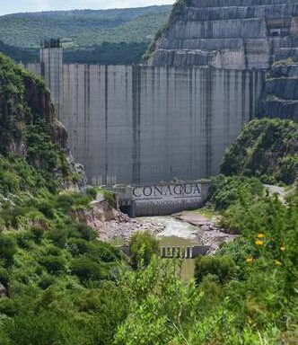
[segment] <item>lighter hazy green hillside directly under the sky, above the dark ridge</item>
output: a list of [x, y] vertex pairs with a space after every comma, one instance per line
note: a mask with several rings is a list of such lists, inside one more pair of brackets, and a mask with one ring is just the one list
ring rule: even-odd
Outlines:
[[40, 40], [61, 38], [66, 47], [102, 42], [143, 42], [153, 37], [171, 12], [170, 5], [115, 10], [17, 13], [0, 17], [0, 40], [37, 48]]

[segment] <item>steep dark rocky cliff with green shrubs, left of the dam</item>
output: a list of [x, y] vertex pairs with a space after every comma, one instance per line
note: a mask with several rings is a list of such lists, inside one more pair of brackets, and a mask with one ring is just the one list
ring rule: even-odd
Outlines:
[[[0, 158], [2, 165], [11, 169], [11, 179], [24, 178], [14, 166], [21, 160], [26, 169], [39, 169], [48, 183], [54, 178], [57, 187], [77, 187], [82, 181], [46, 85], [4, 55], [0, 55]], [[7, 173], [3, 170], [0, 191]], [[25, 190], [26, 183], [21, 184]]]

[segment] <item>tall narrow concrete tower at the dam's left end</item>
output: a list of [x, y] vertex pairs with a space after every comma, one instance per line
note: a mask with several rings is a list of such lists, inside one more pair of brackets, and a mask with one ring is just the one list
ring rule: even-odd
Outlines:
[[41, 75], [43, 76], [57, 112], [57, 118], [62, 116], [63, 101], [63, 61], [62, 44], [59, 39], [44, 40], [40, 49]]

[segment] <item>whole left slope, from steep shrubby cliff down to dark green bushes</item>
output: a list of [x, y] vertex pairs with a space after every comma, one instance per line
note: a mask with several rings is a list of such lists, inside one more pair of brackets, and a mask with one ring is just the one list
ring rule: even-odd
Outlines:
[[4, 56], [0, 117], [0, 343], [108, 344], [121, 255], [76, 220], [94, 190], [65, 190], [79, 176], [48, 90]]

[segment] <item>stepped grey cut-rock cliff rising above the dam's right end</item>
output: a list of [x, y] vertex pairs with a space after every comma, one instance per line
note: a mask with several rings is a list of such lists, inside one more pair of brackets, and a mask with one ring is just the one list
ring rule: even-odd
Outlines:
[[298, 57], [297, 35], [297, 0], [179, 0], [148, 64], [267, 69]]

